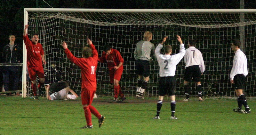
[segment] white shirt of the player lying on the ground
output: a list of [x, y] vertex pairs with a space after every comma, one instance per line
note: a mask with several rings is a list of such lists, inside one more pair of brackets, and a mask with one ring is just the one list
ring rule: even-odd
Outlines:
[[58, 92], [52, 93], [52, 95], [50, 96], [52, 98], [52, 100], [67, 100], [67, 99], [76, 99], [75, 95], [70, 95], [68, 94], [68, 89], [69, 87], [65, 88], [65, 89], [61, 89]]

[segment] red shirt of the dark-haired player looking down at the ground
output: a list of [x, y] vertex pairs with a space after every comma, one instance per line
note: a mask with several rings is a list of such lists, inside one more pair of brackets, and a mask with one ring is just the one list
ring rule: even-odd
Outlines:
[[[116, 50], [111, 48], [111, 52], [109, 55], [103, 51], [102, 56], [98, 59], [99, 62], [106, 62], [108, 65], [108, 69], [114, 69], [115, 66], [118, 66], [120, 62], [124, 63], [124, 59], [121, 54]], [[123, 65], [120, 67], [123, 68]]]

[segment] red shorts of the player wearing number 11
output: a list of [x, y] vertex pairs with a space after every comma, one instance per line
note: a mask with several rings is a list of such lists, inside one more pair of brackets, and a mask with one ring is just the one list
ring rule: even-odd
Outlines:
[[82, 105], [85, 105], [85, 104], [91, 105], [95, 92], [96, 92], [95, 90], [82, 89], [81, 91]]

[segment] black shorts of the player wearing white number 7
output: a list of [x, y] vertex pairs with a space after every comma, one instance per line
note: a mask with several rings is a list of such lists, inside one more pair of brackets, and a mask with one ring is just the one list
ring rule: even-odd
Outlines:
[[199, 65], [189, 66], [185, 69], [184, 80], [190, 82], [191, 78], [195, 82], [201, 82], [201, 70]]

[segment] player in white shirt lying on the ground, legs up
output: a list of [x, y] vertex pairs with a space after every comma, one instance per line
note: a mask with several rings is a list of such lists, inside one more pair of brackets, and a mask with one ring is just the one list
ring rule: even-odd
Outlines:
[[[59, 71], [56, 69], [54, 64], [51, 65], [55, 73], [55, 79], [58, 82], [53, 83], [50, 86], [50, 82], [48, 80], [48, 71], [44, 70], [44, 87], [46, 90], [46, 97], [48, 100], [67, 100], [67, 99], [76, 99], [78, 95], [69, 88], [68, 83], [62, 81]], [[40, 85], [38, 85], [38, 89], [40, 89]], [[53, 92], [52, 95], [49, 94], [49, 91]], [[70, 92], [72, 95], [68, 94]]]

